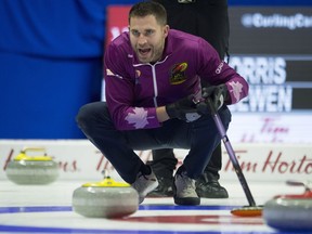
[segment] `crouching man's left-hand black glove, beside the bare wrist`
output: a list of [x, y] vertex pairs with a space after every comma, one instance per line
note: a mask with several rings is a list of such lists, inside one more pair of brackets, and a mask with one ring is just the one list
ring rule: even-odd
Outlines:
[[166, 105], [166, 112], [170, 118], [178, 118], [186, 122], [194, 121], [200, 117], [197, 113], [194, 95], [188, 95], [178, 102]]

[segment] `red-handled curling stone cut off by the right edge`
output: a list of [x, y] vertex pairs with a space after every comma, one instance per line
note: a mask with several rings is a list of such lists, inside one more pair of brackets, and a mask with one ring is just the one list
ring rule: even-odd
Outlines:
[[[304, 185], [301, 182], [288, 184]], [[280, 231], [312, 231], [312, 191], [306, 186], [303, 194], [274, 196], [264, 204], [263, 219], [269, 226]]]

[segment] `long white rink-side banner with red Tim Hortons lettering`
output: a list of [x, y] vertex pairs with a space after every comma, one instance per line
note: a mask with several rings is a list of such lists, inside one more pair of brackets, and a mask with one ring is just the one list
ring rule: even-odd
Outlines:
[[[121, 180], [105, 156], [88, 140], [1, 140], [0, 180], [8, 180], [5, 174], [8, 162], [25, 147], [44, 148], [46, 154], [53, 157], [60, 166], [61, 174], [58, 180], [100, 181], [103, 179], [103, 171], [108, 171], [114, 179]], [[285, 182], [286, 180], [311, 180], [311, 144], [235, 143], [233, 148], [248, 181]], [[143, 161], [152, 160], [150, 151], [136, 153]], [[174, 153], [179, 159], [178, 168], [187, 151], [174, 150]], [[222, 181], [237, 180], [224, 147], [222, 148]]]

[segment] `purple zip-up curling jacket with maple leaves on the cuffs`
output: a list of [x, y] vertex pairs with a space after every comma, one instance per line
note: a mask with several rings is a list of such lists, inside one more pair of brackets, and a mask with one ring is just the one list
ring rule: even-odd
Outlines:
[[204, 39], [174, 29], [166, 38], [161, 60], [142, 64], [122, 32], [104, 55], [105, 94], [118, 130], [157, 128], [156, 107], [188, 94], [200, 98], [200, 79], [216, 86], [225, 83], [234, 104], [248, 94], [248, 84], [221, 61]]

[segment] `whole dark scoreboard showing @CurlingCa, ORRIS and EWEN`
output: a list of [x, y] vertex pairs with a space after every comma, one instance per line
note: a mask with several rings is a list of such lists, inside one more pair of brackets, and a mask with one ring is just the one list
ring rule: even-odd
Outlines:
[[250, 94], [238, 112], [312, 112], [312, 8], [230, 8], [230, 65]]

